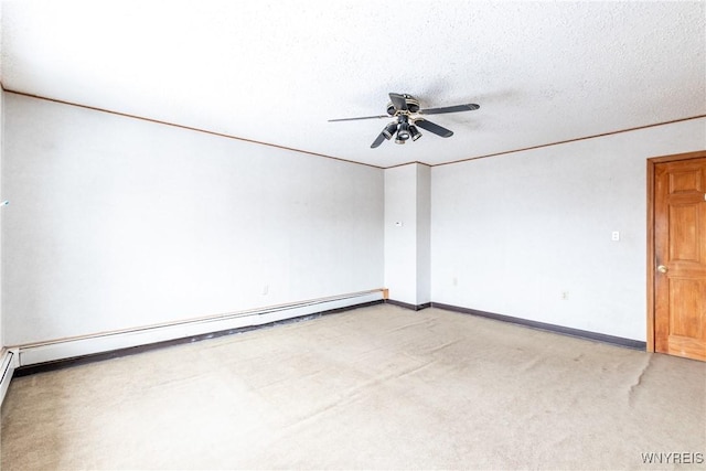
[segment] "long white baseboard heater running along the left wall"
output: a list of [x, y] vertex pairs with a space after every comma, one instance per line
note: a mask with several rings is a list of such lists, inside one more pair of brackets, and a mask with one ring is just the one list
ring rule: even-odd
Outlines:
[[18, 352], [17, 365], [24, 368], [31, 365], [55, 363], [180, 339], [186, 339], [186, 341], [208, 339], [217, 336], [217, 334], [235, 333], [244, 328], [383, 302], [383, 297], [384, 290], [375, 289], [158, 325], [19, 345], [14, 347]]

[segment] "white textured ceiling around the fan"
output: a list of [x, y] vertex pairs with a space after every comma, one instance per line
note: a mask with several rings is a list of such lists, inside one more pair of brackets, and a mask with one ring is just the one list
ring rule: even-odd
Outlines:
[[[2, 1], [7, 90], [391, 167], [706, 115], [706, 2]], [[454, 131], [370, 144], [389, 92]]]

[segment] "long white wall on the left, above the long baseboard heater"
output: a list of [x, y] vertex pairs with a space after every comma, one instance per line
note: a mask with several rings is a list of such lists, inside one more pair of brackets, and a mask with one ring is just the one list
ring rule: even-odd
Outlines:
[[383, 287], [383, 171], [6, 94], [24, 344]]

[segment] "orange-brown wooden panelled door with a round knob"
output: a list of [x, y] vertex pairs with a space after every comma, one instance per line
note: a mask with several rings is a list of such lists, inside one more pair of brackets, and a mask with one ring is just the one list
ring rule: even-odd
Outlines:
[[706, 152], [687, 157], [654, 162], [654, 351], [706, 361]]

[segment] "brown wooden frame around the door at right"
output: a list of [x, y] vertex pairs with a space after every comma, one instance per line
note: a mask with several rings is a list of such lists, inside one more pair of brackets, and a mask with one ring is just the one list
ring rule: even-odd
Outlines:
[[654, 352], [654, 285], [656, 282], [656, 254], [654, 253], [654, 170], [659, 163], [699, 159], [703, 157], [706, 157], [706, 150], [648, 159], [648, 352]]

